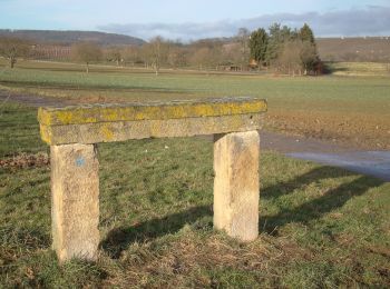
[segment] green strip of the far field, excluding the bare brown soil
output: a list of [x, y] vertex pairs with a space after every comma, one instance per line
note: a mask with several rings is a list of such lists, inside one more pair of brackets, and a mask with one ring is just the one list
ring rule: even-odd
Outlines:
[[[266, 98], [271, 109], [308, 108], [315, 111], [389, 113], [389, 78], [274, 78], [263, 76], [139, 73], [129, 69], [96, 70], [89, 74], [68, 66], [45, 69], [6, 69], [0, 83], [8, 87], [50, 89], [72, 98], [98, 94], [128, 100], [253, 96]], [[115, 69], [115, 68], [113, 68]], [[57, 90], [57, 91], [56, 91]]]

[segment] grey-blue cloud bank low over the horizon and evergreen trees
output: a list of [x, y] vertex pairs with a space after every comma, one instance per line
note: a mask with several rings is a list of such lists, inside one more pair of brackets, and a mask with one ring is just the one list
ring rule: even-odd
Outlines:
[[202, 38], [231, 37], [241, 27], [254, 30], [259, 27], [267, 28], [274, 22], [293, 28], [302, 27], [304, 22], [308, 22], [319, 37], [389, 36], [390, 7], [368, 6], [364, 9], [329, 11], [324, 13], [275, 13], [248, 19], [226, 19], [205, 23], [111, 23], [99, 26], [98, 29], [143, 39], [162, 36], [168, 39], [188, 41]]

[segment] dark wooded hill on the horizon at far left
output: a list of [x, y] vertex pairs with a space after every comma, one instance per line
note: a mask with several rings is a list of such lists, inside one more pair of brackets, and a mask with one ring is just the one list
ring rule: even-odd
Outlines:
[[97, 31], [61, 31], [61, 30], [9, 30], [0, 29], [0, 37], [16, 37], [28, 39], [38, 43], [71, 46], [79, 41], [92, 41], [100, 46], [142, 46], [143, 39], [105, 33]]

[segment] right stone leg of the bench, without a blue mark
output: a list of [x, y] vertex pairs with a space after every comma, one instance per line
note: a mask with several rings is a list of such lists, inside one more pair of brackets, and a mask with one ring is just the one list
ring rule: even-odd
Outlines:
[[214, 136], [214, 227], [242, 241], [259, 236], [257, 131]]

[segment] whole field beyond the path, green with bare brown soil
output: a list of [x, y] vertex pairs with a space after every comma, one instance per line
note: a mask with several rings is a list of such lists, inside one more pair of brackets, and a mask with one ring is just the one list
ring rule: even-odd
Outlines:
[[150, 70], [105, 66], [92, 67], [87, 74], [79, 64], [31, 61], [0, 71], [0, 86], [6, 89], [75, 102], [266, 98], [270, 130], [390, 149], [390, 77], [286, 78], [173, 70], [156, 77]]

